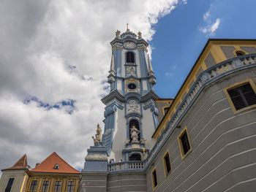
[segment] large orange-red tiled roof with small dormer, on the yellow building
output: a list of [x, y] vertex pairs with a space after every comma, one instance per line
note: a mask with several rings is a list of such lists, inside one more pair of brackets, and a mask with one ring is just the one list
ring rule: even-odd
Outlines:
[[[59, 164], [59, 169], [54, 169], [54, 166]], [[72, 166], [67, 164], [57, 153], [53, 152], [42, 161], [41, 164], [37, 165], [30, 172], [50, 172], [50, 173], [80, 173]]]

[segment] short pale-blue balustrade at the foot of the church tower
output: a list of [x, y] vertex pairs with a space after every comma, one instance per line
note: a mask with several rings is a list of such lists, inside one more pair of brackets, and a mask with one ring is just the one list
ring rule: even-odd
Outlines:
[[108, 164], [109, 172], [141, 170], [144, 168], [143, 161], [123, 161], [113, 164]]

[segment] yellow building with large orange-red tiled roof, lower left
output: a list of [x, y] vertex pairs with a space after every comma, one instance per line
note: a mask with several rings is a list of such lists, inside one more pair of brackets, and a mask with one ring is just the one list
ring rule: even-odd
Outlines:
[[26, 191], [78, 191], [80, 172], [52, 153], [29, 172]]

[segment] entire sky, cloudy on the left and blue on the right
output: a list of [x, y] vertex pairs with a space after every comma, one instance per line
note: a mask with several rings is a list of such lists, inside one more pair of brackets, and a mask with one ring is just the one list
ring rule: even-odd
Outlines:
[[[142, 32], [174, 98], [208, 38], [255, 39], [254, 0], [1, 0], [0, 169], [55, 151], [82, 169], [102, 123], [115, 31]], [[1, 173], [0, 173], [1, 174]]]

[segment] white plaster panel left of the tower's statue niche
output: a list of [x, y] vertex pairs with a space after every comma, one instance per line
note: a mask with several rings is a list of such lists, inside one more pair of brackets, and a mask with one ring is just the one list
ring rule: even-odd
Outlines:
[[124, 161], [122, 150], [127, 139], [127, 120], [124, 118], [124, 109], [116, 111], [116, 128], [113, 133], [113, 145], [109, 159], [113, 158], [116, 162], [120, 159]]

